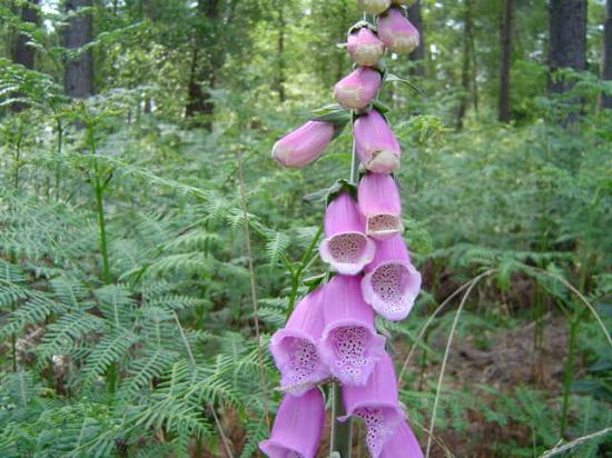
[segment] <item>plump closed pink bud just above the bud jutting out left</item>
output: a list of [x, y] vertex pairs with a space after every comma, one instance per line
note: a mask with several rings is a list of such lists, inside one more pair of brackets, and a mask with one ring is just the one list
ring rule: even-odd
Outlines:
[[359, 110], [374, 99], [381, 83], [381, 73], [368, 67], [359, 67], [336, 83], [334, 97], [344, 108]]

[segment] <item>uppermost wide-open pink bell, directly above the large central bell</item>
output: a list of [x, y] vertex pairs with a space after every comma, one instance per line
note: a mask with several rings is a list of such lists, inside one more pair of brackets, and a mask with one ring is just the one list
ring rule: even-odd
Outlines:
[[365, 220], [347, 192], [336, 197], [325, 211], [325, 239], [320, 259], [339, 273], [355, 275], [374, 259], [374, 241], [366, 237]]

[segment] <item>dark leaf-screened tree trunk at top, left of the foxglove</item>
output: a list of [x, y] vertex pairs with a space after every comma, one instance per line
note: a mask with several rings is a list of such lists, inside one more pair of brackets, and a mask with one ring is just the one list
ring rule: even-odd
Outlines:
[[[219, 0], [198, 0], [198, 14], [206, 18], [208, 27], [201, 24], [194, 36], [194, 50], [191, 56], [191, 72], [188, 84], [188, 100], [185, 116], [195, 119], [195, 123], [213, 130], [213, 111], [215, 103], [210, 100], [210, 89], [217, 83], [217, 69], [220, 67], [223, 50], [219, 49]], [[204, 29], [208, 29], [205, 33]], [[210, 32], [213, 30], [213, 32]], [[214, 38], [214, 39], [213, 39]], [[203, 51], [200, 56], [199, 51]]]

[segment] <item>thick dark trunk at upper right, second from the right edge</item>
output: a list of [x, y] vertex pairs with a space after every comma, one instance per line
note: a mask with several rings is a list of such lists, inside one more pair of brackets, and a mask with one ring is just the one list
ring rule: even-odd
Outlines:
[[586, 69], [586, 0], [551, 0], [549, 93], [566, 92], [574, 83], [554, 79], [556, 70]]

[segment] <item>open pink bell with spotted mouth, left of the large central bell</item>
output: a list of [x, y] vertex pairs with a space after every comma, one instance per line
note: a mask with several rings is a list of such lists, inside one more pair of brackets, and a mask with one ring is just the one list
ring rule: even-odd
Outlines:
[[280, 386], [300, 396], [329, 376], [317, 345], [325, 327], [323, 289], [308, 293], [294, 309], [283, 329], [272, 336], [270, 352], [280, 371]]

